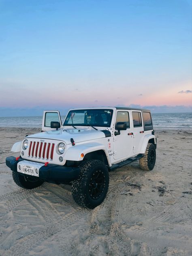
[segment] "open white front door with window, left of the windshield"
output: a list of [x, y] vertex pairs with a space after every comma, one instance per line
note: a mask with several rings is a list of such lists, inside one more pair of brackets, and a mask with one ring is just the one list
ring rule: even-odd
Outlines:
[[55, 128], [51, 128], [52, 121], [59, 122], [60, 127], [62, 127], [60, 112], [58, 110], [44, 110], [41, 131], [45, 132], [45, 131], [55, 130]]

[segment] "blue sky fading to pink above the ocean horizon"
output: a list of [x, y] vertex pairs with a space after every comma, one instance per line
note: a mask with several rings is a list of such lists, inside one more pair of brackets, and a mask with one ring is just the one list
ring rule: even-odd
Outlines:
[[0, 116], [192, 111], [191, 0], [0, 0]]

